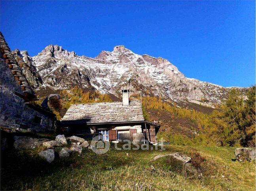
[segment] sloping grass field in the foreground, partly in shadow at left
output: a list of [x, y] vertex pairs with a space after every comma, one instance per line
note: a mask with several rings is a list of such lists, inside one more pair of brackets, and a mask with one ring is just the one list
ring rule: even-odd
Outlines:
[[[31, 151], [1, 153], [1, 190], [255, 190], [255, 162], [231, 161], [235, 148], [166, 146], [165, 151], [117, 151], [40, 159]], [[159, 154], [197, 151], [206, 158], [202, 178], [186, 178], [171, 158]]]

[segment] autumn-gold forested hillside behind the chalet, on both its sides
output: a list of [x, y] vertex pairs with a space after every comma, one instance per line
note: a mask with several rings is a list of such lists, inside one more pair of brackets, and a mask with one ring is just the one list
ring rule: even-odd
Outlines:
[[[70, 104], [113, 101], [108, 94], [99, 91], [85, 93], [77, 86], [62, 90], [60, 95], [61, 100], [49, 102], [59, 120]], [[140, 96], [131, 95], [131, 99], [140, 99]], [[142, 97], [142, 110], [146, 120], [161, 125], [158, 138], [164, 138], [170, 144], [255, 146], [255, 86], [250, 87], [246, 97], [237, 89], [232, 89], [219, 108], [208, 108], [208, 112], [201, 112], [193, 106], [181, 108], [156, 96]]]

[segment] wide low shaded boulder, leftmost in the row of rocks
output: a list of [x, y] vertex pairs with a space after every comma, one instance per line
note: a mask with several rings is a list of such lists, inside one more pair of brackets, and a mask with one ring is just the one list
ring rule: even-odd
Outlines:
[[43, 142], [48, 141], [46, 138], [32, 138], [27, 136], [14, 136], [13, 147], [17, 150], [34, 149]]

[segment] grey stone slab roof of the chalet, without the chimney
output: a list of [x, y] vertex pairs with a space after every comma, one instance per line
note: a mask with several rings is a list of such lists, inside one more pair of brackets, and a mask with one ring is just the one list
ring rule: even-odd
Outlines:
[[61, 120], [64, 124], [126, 121], [144, 121], [140, 101], [130, 101], [128, 106], [122, 102], [72, 104]]

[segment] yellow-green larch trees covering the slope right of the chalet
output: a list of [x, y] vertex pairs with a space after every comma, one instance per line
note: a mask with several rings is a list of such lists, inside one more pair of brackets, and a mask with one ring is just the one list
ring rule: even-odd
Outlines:
[[[190, 130], [194, 132], [193, 138], [182, 132], [175, 133], [176, 127], [168, 127], [165, 120], [170, 118], [158, 121], [162, 125], [158, 136], [173, 144], [255, 146], [255, 86], [249, 89], [247, 98], [236, 89], [232, 89], [221, 108], [214, 110], [210, 115], [177, 108], [156, 97], [145, 97], [142, 103], [146, 110], [158, 110], [157, 115], [160, 117], [161, 112], [167, 112], [170, 113], [171, 120], [184, 119], [192, 122]], [[150, 119], [150, 117], [151, 115], [146, 113], [146, 118]]]

